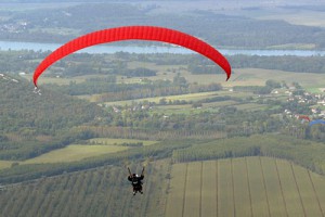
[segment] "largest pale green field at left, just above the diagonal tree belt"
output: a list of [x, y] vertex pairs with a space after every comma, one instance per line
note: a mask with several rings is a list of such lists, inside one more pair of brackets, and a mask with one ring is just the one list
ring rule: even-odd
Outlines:
[[72, 144], [66, 148], [54, 150], [21, 164], [46, 164], [60, 162], [76, 162], [87, 157], [98, 156], [127, 150], [126, 146], [117, 145], [81, 145]]

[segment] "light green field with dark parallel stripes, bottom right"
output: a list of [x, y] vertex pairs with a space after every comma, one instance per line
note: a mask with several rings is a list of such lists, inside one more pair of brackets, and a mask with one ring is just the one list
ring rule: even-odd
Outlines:
[[316, 217], [324, 210], [325, 177], [288, 161], [243, 157], [174, 164], [166, 216]]

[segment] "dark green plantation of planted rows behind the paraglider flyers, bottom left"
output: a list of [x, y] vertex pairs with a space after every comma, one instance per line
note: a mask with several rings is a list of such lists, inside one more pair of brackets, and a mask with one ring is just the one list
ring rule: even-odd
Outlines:
[[[142, 169], [141, 164], [129, 166], [134, 173]], [[0, 216], [162, 216], [167, 166], [165, 162], [147, 165], [144, 193], [134, 196], [122, 166], [8, 186], [0, 189]]]

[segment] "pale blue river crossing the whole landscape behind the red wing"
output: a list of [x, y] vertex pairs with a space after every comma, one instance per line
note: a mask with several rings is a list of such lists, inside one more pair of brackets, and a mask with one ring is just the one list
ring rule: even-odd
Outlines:
[[[15, 41], [0, 41], [0, 50], [32, 50], [32, 51], [53, 51], [57, 49], [60, 43], [38, 43], [38, 42], [15, 42]], [[296, 56], [325, 56], [325, 51], [317, 50], [248, 50], [248, 49], [218, 49], [224, 55], [296, 55]], [[82, 49], [79, 52], [86, 53], [116, 53], [116, 52], [129, 52], [129, 53], [174, 53], [174, 54], [192, 54], [193, 51], [174, 46], [161, 46], [161, 47], [140, 47], [140, 46], [93, 46], [87, 49]]]

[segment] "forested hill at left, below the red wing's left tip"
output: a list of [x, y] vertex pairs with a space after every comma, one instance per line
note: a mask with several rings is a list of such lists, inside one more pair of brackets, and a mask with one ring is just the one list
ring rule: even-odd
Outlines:
[[0, 74], [0, 158], [23, 159], [92, 133], [73, 128], [104, 116], [94, 104]]

